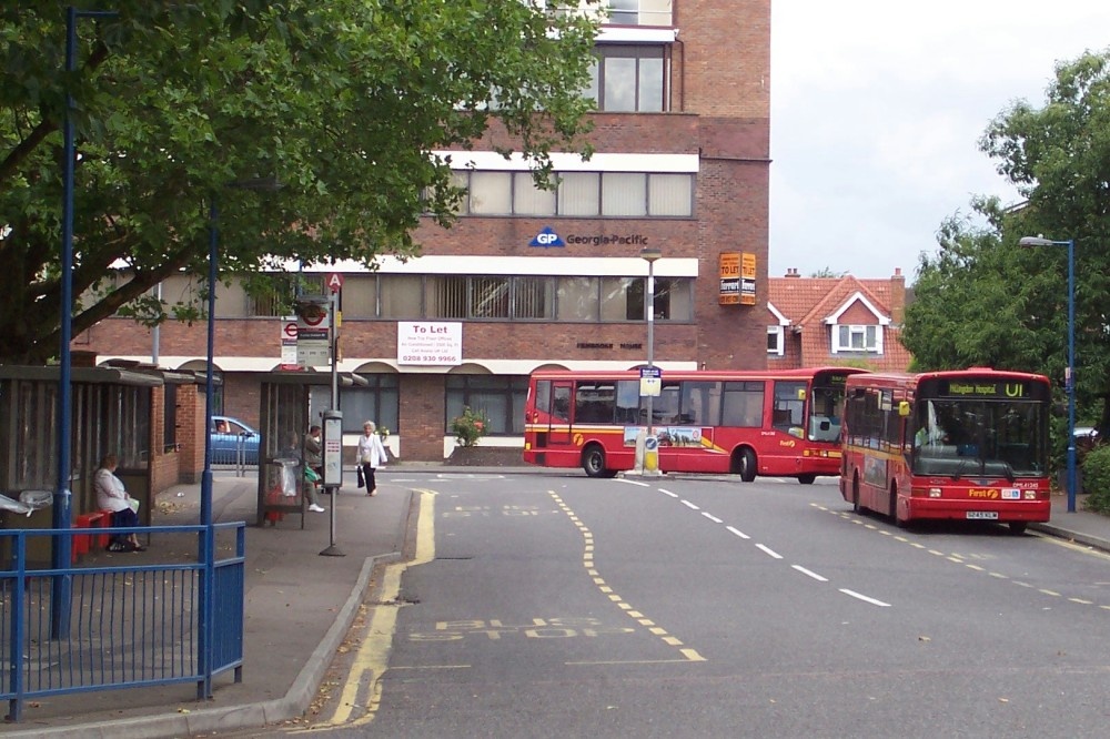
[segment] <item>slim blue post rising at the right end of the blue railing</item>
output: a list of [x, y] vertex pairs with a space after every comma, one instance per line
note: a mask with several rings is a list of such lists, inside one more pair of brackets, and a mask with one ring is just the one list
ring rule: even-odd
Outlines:
[[216, 259], [220, 231], [220, 213], [215, 195], [209, 201], [209, 315], [208, 315], [208, 366], [204, 374], [204, 470], [201, 473], [201, 533], [200, 558], [204, 563], [201, 579], [200, 607], [201, 624], [198, 638], [198, 665], [202, 680], [196, 684], [198, 699], [212, 697], [212, 656], [215, 628], [215, 529], [212, 522], [212, 366], [215, 364], [215, 286]]

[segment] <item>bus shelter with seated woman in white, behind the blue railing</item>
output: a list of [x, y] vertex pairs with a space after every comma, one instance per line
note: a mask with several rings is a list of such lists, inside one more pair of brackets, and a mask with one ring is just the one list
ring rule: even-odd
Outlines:
[[[81, 526], [99, 516], [92, 478], [105, 454], [119, 457], [119, 476], [140, 502], [140, 524], [151, 522], [151, 444], [153, 391], [163, 378], [114, 367], [73, 367], [70, 374], [73, 423], [70, 428], [72, 520], [54, 522], [58, 489], [58, 366], [0, 366], [0, 494], [19, 499], [41, 492], [44, 505], [30, 514], [0, 512], [4, 529]], [[27, 495], [23, 496], [24, 498]], [[9, 540], [0, 538], [0, 557], [11, 561]], [[34, 537], [29, 565], [48, 567], [53, 541]]]

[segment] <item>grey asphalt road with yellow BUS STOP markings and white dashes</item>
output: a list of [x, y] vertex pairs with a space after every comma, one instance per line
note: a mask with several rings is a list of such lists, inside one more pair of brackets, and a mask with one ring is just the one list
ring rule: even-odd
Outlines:
[[426, 563], [396, 573], [395, 621], [356, 626], [329, 736], [1104, 732], [1106, 555], [899, 529], [833, 480], [427, 485]]

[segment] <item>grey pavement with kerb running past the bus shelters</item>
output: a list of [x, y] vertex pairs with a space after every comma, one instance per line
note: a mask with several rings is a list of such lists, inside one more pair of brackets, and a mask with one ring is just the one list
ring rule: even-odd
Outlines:
[[[446, 467], [391, 465], [379, 472], [379, 494], [367, 496], [354, 485], [353, 472], [336, 496], [321, 496], [324, 514], [286, 515], [276, 526], [246, 527], [243, 679], [232, 671], [214, 680], [213, 697], [196, 700], [195, 684], [132, 688], [54, 696], [27, 701], [19, 723], [4, 725], [3, 736], [44, 737], [188, 737], [214, 732], [260, 732], [289, 722], [306, 726], [329, 666], [343, 644], [363, 603], [373, 601], [379, 566], [411, 558], [420, 490], [450, 475], [543, 474], [537, 467]], [[218, 523], [253, 524], [258, 479], [216, 473], [213, 517]], [[1068, 513], [1063, 495], [1053, 496], [1048, 524], [1030, 529], [1110, 551], [1110, 517], [1084, 509]], [[333, 500], [334, 498], [334, 500]], [[331, 530], [331, 507], [336, 526]], [[155, 525], [199, 523], [199, 485], [179, 485], [162, 493]], [[178, 539], [172, 537], [176, 536]], [[181, 537], [188, 537], [185, 539]], [[321, 551], [343, 556], [323, 556]], [[193, 535], [154, 536], [147, 553], [100, 557], [151, 558], [173, 550], [195, 551]], [[129, 560], [130, 561], [130, 560]], [[135, 559], [135, 561], [139, 561]]]

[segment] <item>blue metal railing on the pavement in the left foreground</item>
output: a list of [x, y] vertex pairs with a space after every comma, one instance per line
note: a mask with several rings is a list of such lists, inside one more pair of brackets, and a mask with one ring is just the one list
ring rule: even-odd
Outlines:
[[[211, 587], [200, 554], [182, 560], [168, 553], [163, 559], [175, 561], [145, 565], [28, 567], [28, 553], [38, 553], [41, 539], [123, 532], [150, 535], [155, 543], [169, 534], [195, 534], [196, 553], [205, 551], [209, 536], [205, 526], [0, 530], [0, 699], [9, 701], [9, 720], [20, 720], [23, 701], [42, 696], [190, 681], [200, 694], [212, 676], [229, 669], [241, 680], [244, 523], [212, 527], [218, 540], [234, 537], [234, 555], [215, 560]], [[58, 603], [56, 578], [70, 580], [65, 603]], [[213, 622], [204, 628], [202, 598], [209, 593]]]

